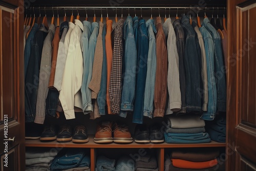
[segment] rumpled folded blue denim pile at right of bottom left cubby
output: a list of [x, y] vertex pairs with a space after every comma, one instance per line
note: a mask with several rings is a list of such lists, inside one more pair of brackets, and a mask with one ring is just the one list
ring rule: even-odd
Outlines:
[[54, 158], [51, 170], [90, 170], [90, 154], [78, 148], [65, 148]]

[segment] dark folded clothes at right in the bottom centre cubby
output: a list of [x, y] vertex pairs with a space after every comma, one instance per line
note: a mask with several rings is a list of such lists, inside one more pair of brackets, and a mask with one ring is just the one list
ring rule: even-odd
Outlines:
[[153, 155], [140, 156], [135, 162], [136, 171], [158, 171], [157, 159]]

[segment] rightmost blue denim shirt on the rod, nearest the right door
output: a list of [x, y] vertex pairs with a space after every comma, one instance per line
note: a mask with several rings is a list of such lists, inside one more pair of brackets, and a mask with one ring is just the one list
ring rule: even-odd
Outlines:
[[226, 112], [226, 78], [221, 37], [218, 31], [210, 24], [208, 18], [204, 18], [203, 26], [210, 32], [214, 40], [214, 75], [217, 87], [217, 110], [219, 112]]

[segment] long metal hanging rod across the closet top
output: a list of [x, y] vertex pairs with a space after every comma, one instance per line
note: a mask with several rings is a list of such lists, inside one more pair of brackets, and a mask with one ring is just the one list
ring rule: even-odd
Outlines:
[[65, 10], [74, 10], [74, 9], [79, 9], [79, 10], [84, 10], [84, 9], [87, 9], [87, 10], [101, 10], [101, 9], [148, 9], [148, 10], [151, 10], [151, 9], [187, 9], [187, 10], [213, 10], [213, 9], [219, 9], [219, 10], [225, 10], [226, 7], [217, 7], [217, 6], [212, 6], [212, 7], [132, 7], [132, 6], [118, 6], [118, 7], [114, 7], [114, 6], [104, 6], [104, 7], [99, 7], [99, 6], [53, 6], [53, 7], [49, 7], [49, 6], [34, 6], [35, 9], [39, 9], [39, 8], [44, 8], [46, 10], [52, 10], [52, 9], [58, 9], [58, 10], [61, 10], [61, 9], [65, 9]]

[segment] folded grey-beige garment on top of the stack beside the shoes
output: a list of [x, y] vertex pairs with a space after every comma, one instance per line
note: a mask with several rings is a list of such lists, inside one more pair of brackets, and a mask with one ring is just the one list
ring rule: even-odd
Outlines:
[[197, 115], [168, 115], [167, 125], [173, 129], [188, 129], [194, 127], [204, 127], [205, 121]]

